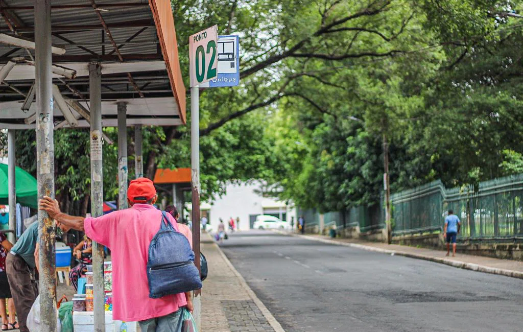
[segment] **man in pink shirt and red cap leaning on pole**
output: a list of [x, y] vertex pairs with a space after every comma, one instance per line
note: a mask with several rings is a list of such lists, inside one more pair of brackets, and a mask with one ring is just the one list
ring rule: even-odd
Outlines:
[[[140, 322], [143, 332], [170, 331], [176, 326], [180, 308], [192, 311], [190, 292], [166, 295], [160, 299], [149, 297], [147, 283], [147, 253], [152, 238], [160, 229], [162, 212], [153, 204], [158, 198], [150, 179], [132, 180], [127, 191], [131, 208], [100, 217], [77, 217], [60, 212], [58, 201], [49, 197], [40, 200], [45, 210], [58, 225], [84, 231], [93, 241], [111, 249], [113, 318]], [[192, 247], [188, 227], [178, 227], [174, 217], [167, 213], [170, 223], [183, 233]]]

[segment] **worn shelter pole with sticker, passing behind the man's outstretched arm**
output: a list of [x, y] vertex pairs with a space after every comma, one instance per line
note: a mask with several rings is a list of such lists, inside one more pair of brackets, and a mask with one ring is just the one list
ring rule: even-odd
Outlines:
[[[89, 63], [91, 215], [104, 214], [101, 131], [101, 66]], [[105, 332], [104, 247], [93, 242], [94, 323], [96, 332]]]

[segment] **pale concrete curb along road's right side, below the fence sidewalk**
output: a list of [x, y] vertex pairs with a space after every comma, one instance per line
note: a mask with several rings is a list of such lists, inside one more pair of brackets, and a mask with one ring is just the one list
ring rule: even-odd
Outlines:
[[449, 266], [460, 268], [460, 269], [467, 269], [467, 270], [472, 270], [472, 271], [477, 271], [477, 272], [498, 274], [500, 276], [523, 279], [523, 272], [521, 272], [521, 271], [498, 269], [498, 268], [493, 268], [490, 266], [484, 266], [484, 265], [478, 265], [478, 264], [474, 264], [474, 263], [451, 260], [451, 259], [442, 258], [442, 257], [406, 253], [405, 251], [382, 249], [382, 248], [376, 248], [376, 247], [366, 246], [366, 245], [357, 244], [357, 243], [339, 242], [339, 241], [329, 240], [326, 238], [317, 238], [315, 236], [310, 236], [310, 235], [301, 235], [301, 234], [287, 233], [287, 232], [282, 232], [282, 231], [276, 231], [276, 232], [281, 233], [281, 234], [291, 235], [291, 236], [302, 237], [302, 238], [310, 239], [312, 241], [319, 241], [319, 242], [323, 242], [323, 243], [335, 244], [335, 245], [346, 246], [346, 247], [353, 247], [353, 248], [358, 248], [358, 249], [367, 250], [367, 251], [375, 251], [377, 253], [382, 253], [382, 254], [394, 254], [394, 255], [399, 255], [399, 256], [404, 256], [404, 257], [409, 257], [409, 258], [423, 259], [423, 260], [433, 261], [433, 262], [440, 263], [440, 264], [449, 265]]

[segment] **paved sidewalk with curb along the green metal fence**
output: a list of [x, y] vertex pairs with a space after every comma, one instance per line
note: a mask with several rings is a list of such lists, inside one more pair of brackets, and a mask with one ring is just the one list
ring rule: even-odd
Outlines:
[[516, 260], [474, 256], [459, 253], [456, 254], [456, 257], [446, 257], [446, 251], [436, 249], [416, 248], [396, 244], [389, 245], [380, 242], [360, 241], [356, 239], [347, 238], [331, 238], [328, 236], [316, 234], [301, 235], [290, 232], [285, 233], [294, 236], [309, 238], [316, 241], [346, 245], [364, 250], [379, 251], [385, 254], [394, 254], [417, 259], [430, 260], [458, 268], [486, 273], [501, 274], [507, 277], [523, 279], [523, 262]]

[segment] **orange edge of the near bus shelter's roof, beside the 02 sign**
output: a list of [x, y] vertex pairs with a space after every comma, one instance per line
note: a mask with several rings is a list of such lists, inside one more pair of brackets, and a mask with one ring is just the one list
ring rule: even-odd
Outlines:
[[185, 85], [181, 77], [180, 60], [178, 57], [178, 42], [176, 40], [176, 30], [174, 27], [173, 11], [170, 8], [170, 1], [149, 0], [149, 6], [153, 12], [154, 25], [160, 39], [162, 55], [169, 74], [170, 87], [173, 95], [178, 102], [180, 109], [180, 120], [184, 124], [186, 121], [185, 112]]

